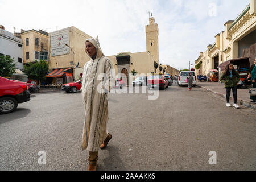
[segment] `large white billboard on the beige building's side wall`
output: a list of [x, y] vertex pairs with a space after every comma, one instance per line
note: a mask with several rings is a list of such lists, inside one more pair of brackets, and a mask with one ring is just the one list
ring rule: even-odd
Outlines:
[[51, 33], [52, 56], [66, 55], [69, 53], [69, 28], [64, 28]]

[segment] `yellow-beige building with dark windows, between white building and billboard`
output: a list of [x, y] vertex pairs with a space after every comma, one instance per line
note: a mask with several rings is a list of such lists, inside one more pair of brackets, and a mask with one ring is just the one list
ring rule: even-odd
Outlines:
[[48, 61], [48, 33], [42, 30], [21, 30], [15, 36], [22, 38], [23, 41], [23, 64], [35, 62], [35, 60]]

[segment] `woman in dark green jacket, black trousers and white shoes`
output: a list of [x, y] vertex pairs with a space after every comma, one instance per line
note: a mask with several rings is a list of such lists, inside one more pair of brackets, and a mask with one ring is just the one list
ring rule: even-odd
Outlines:
[[226, 106], [231, 107], [229, 100], [230, 100], [230, 92], [232, 89], [233, 97], [234, 97], [234, 104], [233, 106], [236, 109], [240, 107], [237, 105], [237, 85], [240, 81], [239, 73], [234, 69], [233, 64], [226, 65], [226, 69], [224, 73], [222, 73], [220, 80], [225, 84], [226, 88]]

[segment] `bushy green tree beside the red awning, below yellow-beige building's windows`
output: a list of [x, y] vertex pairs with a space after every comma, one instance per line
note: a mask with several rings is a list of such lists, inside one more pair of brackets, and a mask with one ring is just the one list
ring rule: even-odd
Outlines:
[[36, 60], [35, 63], [28, 63], [27, 66], [24, 66], [24, 73], [26, 73], [29, 78], [37, 80], [39, 84], [41, 81], [46, 80], [48, 71], [49, 65], [43, 60]]

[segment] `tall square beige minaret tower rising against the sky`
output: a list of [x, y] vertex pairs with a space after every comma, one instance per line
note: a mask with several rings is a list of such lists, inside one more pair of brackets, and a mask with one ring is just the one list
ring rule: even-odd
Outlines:
[[158, 24], [151, 14], [150, 24], [146, 26], [147, 51], [154, 57], [156, 63], [159, 64], [159, 46], [158, 46]]

